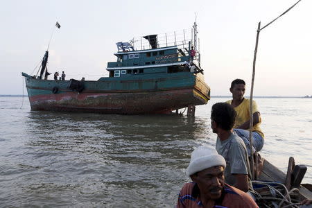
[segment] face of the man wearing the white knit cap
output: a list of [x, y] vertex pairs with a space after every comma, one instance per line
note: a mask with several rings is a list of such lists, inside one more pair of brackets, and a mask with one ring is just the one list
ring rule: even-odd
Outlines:
[[200, 189], [200, 197], [217, 200], [221, 197], [224, 187], [224, 168], [214, 166], [207, 168], [197, 174], [191, 175], [193, 182], [196, 182]]

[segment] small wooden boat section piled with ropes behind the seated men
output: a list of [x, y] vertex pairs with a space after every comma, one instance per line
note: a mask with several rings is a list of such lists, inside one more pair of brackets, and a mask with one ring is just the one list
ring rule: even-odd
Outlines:
[[252, 182], [256, 185], [254, 191], [259, 193], [259, 207], [298, 207], [302, 200], [312, 199], [312, 184], [301, 184], [305, 172], [306, 166], [295, 166], [293, 157], [287, 174], [264, 159], [258, 181]]

